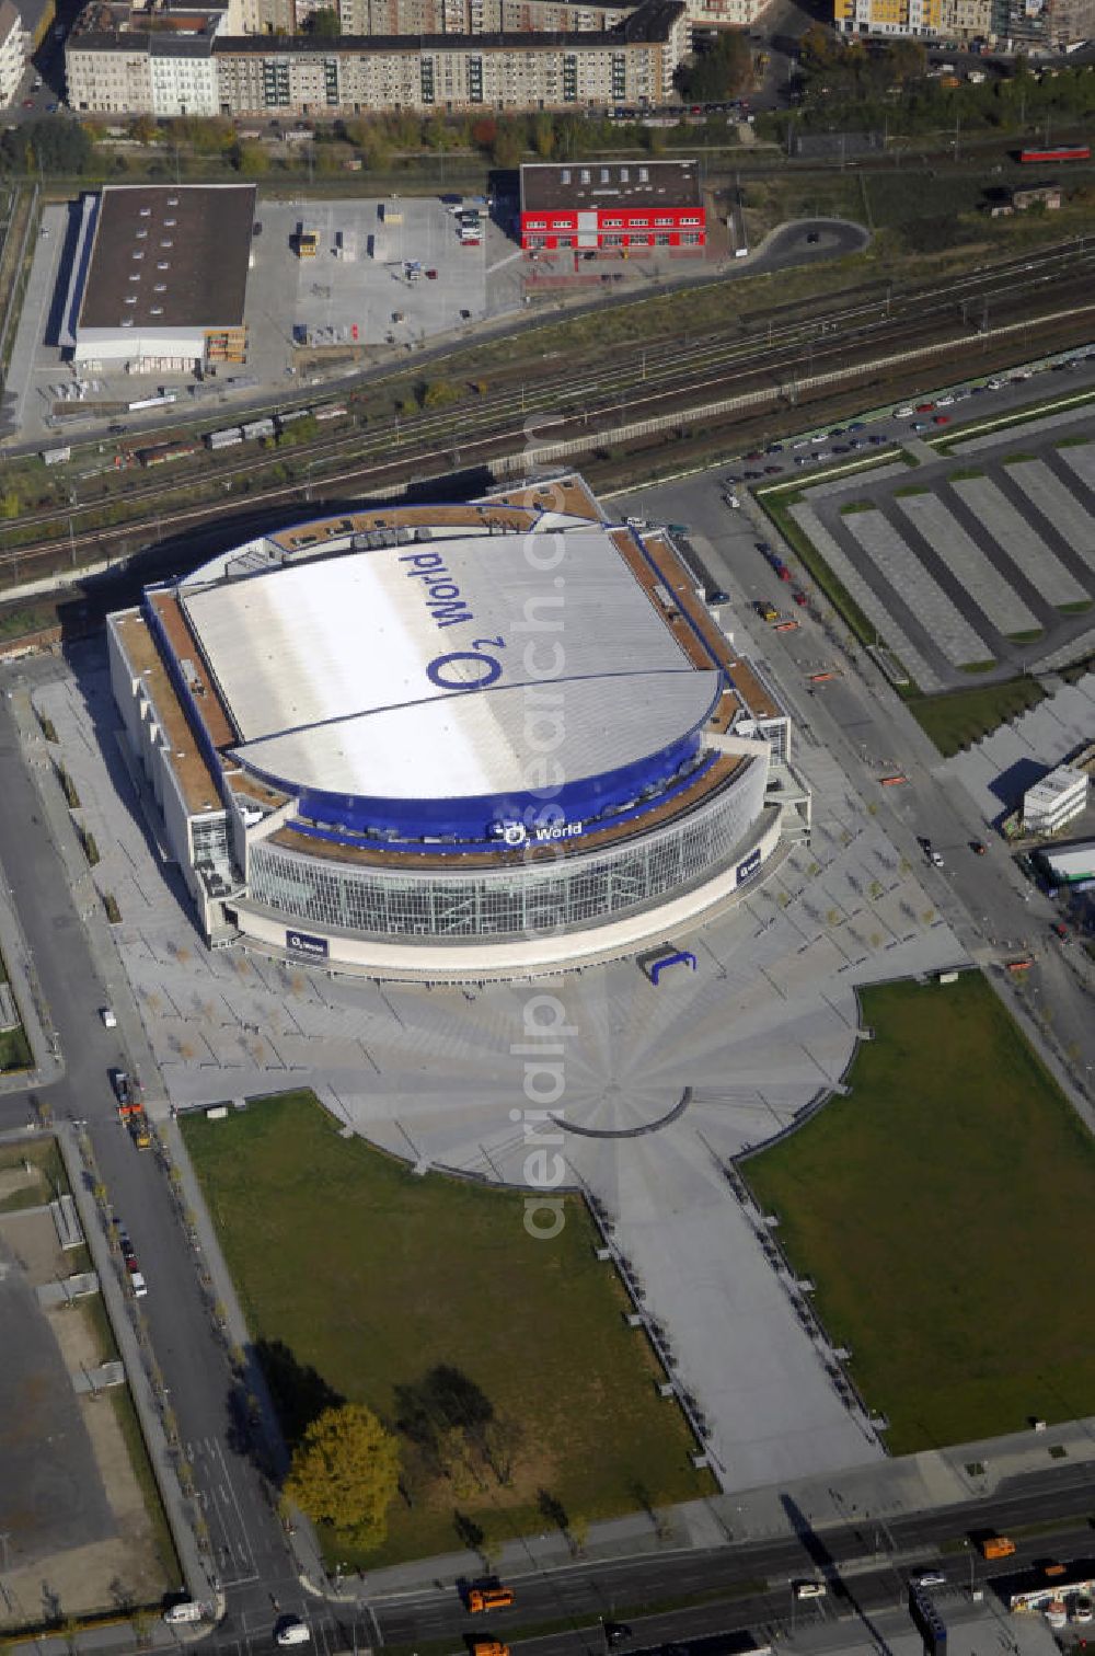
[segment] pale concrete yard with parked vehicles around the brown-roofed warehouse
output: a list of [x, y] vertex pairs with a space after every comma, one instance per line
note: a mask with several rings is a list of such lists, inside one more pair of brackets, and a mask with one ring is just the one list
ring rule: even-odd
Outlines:
[[[161, 388], [186, 388], [194, 407], [220, 417], [234, 397], [253, 399], [257, 391], [288, 396], [301, 376], [295, 348], [310, 353], [308, 376], [323, 371], [325, 358], [345, 371], [353, 361], [391, 361], [437, 336], [459, 336], [523, 301], [522, 253], [485, 207], [479, 245], [461, 245], [459, 220], [441, 197], [262, 200], [255, 217], [247, 363], [197, 384], [189, 374], [128, 374], [121, 363], [108, 363], [83, 376], [88, 404], [126, 404]], [[293, 242], [301, 227], [316, 232], [315, 257], [297, 257]], [[103, 416], [84, 412], [80, 401], [66, 401], [63, 419], [53, 421], [60, 389], [76, 379], [56, 343], [73, 233], [71, 205], [48, 204], [17, 328], [7, 432], [0, 429], [0, 437], [18, 432], [31, 442], [58, 442], [61, 427], [80, 434], [103, 424]], [[139, 434], [161, 417], [162, 411], [151, 411], [128, 416], [128, 424]]]

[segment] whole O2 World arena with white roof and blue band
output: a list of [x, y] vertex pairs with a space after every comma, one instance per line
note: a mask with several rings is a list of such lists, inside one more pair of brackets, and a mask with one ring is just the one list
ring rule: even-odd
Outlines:
[[318, 518], [108, 623], [212, 944], [474, 979], [664, 939], [808, 830], [789, 720], [668, 532], [580, 477]]

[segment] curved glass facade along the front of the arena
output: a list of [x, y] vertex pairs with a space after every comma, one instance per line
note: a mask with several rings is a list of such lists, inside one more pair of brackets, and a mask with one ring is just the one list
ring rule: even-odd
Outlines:
[[248, 898], [288, 922], [386, 937], [505, 937], [590, 926], [712, 874], [764, 805], [767, 758], [747, 760], [704, 805], [643, 838], [573, 850], [520, 869], [414, 874], [288, 851], [248, 850]]

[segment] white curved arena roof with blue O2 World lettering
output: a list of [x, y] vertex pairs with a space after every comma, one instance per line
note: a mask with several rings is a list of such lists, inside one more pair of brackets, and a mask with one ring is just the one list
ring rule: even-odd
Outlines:
[[179, 599], [235, 752], [295, 788], [528, 792], [545, 752], [575, 782], [669, 745], [719, 691], [601, 527], [191, 578]]

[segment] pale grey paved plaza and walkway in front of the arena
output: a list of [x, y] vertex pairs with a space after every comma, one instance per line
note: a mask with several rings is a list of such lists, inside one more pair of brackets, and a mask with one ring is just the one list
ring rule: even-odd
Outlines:
[[378, 985], [202, 946], [121, 765], [104, 659], [80, 646], [75, 662], [78, 677], [35, 700], [103, 853], [93, 878], [118, 899], [123, 959], [174, 1105], [313, 1085], [338, 1119], [422, 1171], [525, 1186], [527, 1138], [545, 1116], [522, 1048], [532, 1023], [557, 1023], [552, 1131], [568, 1182], [613, 1217], [711, 1423], [726, 1487], [881, 1457], [726, 1167], [840, 1085], [856, 984], [962, 959], [825, 749], [807, 742], [802, 755], [817, 790], [812, 845], [691, 939], [694, 977], [654, 989], [623, 960], [532, 985]]

